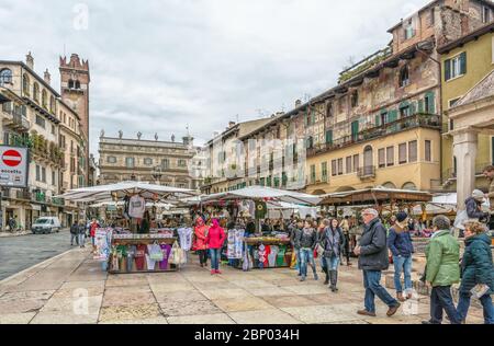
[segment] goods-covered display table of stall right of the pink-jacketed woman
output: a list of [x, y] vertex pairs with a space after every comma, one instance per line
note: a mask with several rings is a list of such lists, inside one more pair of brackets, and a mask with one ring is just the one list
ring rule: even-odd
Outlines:
[[248, 258], [248, 269], [287, 268], [290, 267], [293, 246], [290, 239], [274, 237], [244, 238], [244, 254], [242, 261], [236, 263], [238, 269], [246, 269], [244, 265]]

